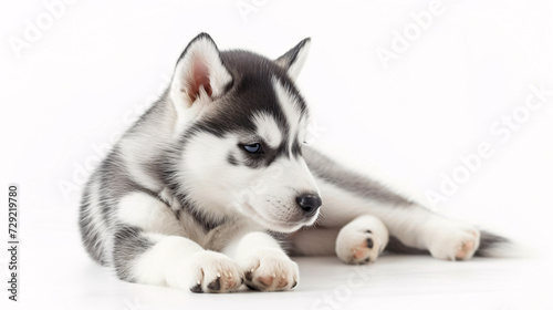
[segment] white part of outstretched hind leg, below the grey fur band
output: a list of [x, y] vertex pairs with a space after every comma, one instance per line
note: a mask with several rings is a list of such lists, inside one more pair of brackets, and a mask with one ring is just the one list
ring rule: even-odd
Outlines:
[[[326, 189], [323, 215], [324, 224], [330, 227], [342, 226], [352, 218], [371, 214], [382, 220], [389, 235], [395, 237], [388, 246], [392, 250], [429, 251], [439, 259], [467, 260], [479, 248], [480, 231], [470, 224], [442, 217], [416, 204], [397, 206], [375, 203], [332, 187], [321, 186]], [[346, 200], [351, 204], [344, 205]]]

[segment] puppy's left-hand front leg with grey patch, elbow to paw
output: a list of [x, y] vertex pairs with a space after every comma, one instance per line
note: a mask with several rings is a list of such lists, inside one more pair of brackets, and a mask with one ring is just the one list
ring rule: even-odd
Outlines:
[[232, 259], [186, 237], [170, 236], [184, 231], [159, 199], [129, 194], [119, 202], [116, 216], [121, 224], [112, 259], [121, 279], [192, 292], [229, 292], [241, 286], [242, 272]]

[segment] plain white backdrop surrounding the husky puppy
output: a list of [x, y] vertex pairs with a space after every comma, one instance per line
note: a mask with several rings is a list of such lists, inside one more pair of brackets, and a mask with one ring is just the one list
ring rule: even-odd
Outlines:
[[[551, 1], [438, 1], [426, 30], [414, 16], [435, 1], [81, 0], [55, 7], [56, 17], [51, 2], [0, 8], [0, 184], [2, 193], [9, 183], [21, 188], [21, 301], [8, 309], [551, 306], [542, 280], [553, 273], [543, 264], [553, 236], [553, 95], [528, 115], [521, 110], [531, 85], [553, 90]], [[407, 45], [394, 50], [395, 33], [406, 30]], [[220, 49], [271, 58], [311, 37], [299, 84], [315, 111], [315, 144], [384, 172], [421, 199], [440, 193], [444, 175], [462, 166], [459, 156], [488, 143], [492, 155], [435, 208], [501, 231], [536, 249], [538, 259], [384, 257], [363, 269], [371, 277], [361, 286], [347, 282], [357, 273], [336, 259], [300, 259], [298, 289], [270, 294], [191, 294], [116, 280], [80, 245], [80, 188], [201, 31]], [[383, 62], [377, 50], [396, 51], [395, 59]], [[518, 128], [508, 138], [493, 134], [513, 113], [523, 118]], [[1, 250], [2, 302], [7, 264]]]

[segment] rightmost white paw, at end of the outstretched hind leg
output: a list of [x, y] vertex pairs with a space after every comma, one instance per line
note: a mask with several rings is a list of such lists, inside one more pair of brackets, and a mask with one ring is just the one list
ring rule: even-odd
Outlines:
[[469, 225], [449, 223], [435, 229], [428, 250], [435, 258], [446, 260], [468, 260], [480, 246], [480, 231]]

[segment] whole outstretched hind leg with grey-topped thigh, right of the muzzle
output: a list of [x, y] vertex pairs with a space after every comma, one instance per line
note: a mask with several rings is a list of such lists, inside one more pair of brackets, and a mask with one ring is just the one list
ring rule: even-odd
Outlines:
[[[449, 260], [470, 259], [477, 254], [480, 231], [472, 225], [434, 214], [314, 149], [305, 148], [304, 157], [321, 189], [322, 226], [342, 227], [369, 214], [379, 218], [395, 237], [389, 247], [428, 250], [436, 258]], [[484, 240], [488, 247], [504, 241], [491, 237]]]

